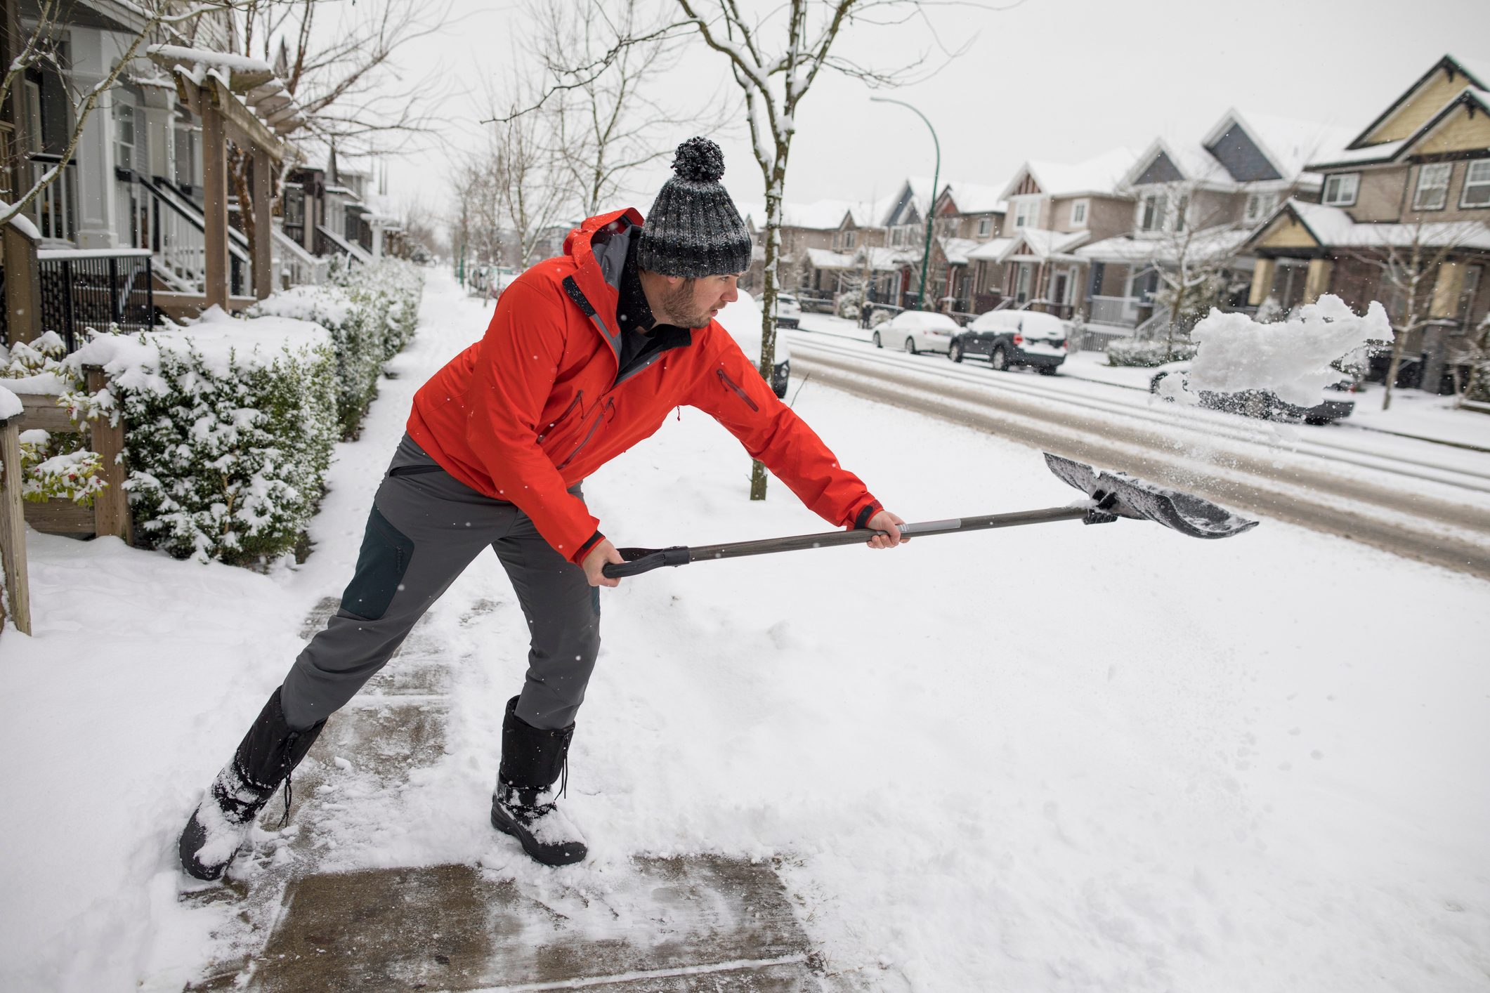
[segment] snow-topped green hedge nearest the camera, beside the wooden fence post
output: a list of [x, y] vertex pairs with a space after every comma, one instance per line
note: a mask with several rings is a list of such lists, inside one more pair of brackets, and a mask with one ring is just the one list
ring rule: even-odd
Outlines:
[[98, 335], [66, 362], [83, 365], [109, 374], [103, 406], [125, 421], [137, 539], [243, 566], [297, 546], [341, 436], [325, 329], [215, 308], [189, 328]]

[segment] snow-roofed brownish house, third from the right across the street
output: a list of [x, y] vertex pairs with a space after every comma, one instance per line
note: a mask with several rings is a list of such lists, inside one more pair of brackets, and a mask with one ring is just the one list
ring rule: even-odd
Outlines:
[[974, 308], [1012, 298], [1059, 317], [1082, 301], [1086, 261], [1076, 249], [1128, 229], [1132, 199], [1119, 192], [1137, 155], [1118, 147], [1085, 162], [1028, 161], [1000, 191], [1000, 237], [967, 253]]

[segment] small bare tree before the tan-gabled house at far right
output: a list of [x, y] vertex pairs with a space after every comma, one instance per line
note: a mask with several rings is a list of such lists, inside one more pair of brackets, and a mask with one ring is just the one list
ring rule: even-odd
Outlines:
[[[1374, 237], [1371, 225], [1360, 225], [1362, 237]], [[1381, 409], [1392, 408], [1392, 390], [1402, 371], [1402, 357], [1408, 338], [1435, 323], [1432, 296], [1444, 262], [1480, 229], [1480, 225], [1465, 222], [1429, 222], [1392, 225], [1390, 235], [1374, 244], [1353, 249], [1348, 258], [1359, 259], [1377, 269], [1378, 286], [1387, 292], [1384, 301], [1392, 316], [1393, 339], [1392, 362], [1387, 366], [1386, 389], [1381, 395]]]

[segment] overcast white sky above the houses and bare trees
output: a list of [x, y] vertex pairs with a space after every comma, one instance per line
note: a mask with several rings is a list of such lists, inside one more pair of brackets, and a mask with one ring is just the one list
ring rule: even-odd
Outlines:
[[[475, 94], [510, 67], [523, 13], [519, 4], [478, 0], [457, 0], [456, 13], [404, 61]], [[1490, 61], [1486, 0], [1025, 0], [1006, 10], [934, 6], [925, 15], [949, 48], [970, 39], [971, 48], [949, 61], [925, 25], [863, 25], [843, 37], [842, 51], [887, 68], [930, 51], [927, 66], [940, 71], [885, 95], [931, 119], [943, 182], [991, 186], [1031, 158], [1076, 162], [1118, 144], [1143, 147], [1156, 134], [1196, 140], [1232, 106], [1360, 130], [1445, 52]], [[726, 79], [723, 57], [700, 46], [665, 85], [687, 101]], [[732, 85], [720, 92], [735, 98]], [[797, 119], [788, 199], [867, 199], [907, 174], [931, 174], [925, 125], [869, 97], [857, 80], [818, 77]], [[447, 213], [450, 149], [478, 140], [481, 116], [474, 97], [444, 101], [443, 137], [389, 161], [389, 192]], [[691, 132], [682, 128], [668, 144]], [[735, 198], [763, 199], [745, 128], [718, 137]], [[647, 192], [630, 205], [645, 213], [663, 179], [660, 170], [638, 177]]]

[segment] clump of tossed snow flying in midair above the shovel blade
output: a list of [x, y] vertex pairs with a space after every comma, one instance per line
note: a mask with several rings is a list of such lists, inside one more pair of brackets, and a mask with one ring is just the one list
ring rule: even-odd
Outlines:
[[1357, 316], [1342, 299], [1326, 293], [1277, 323], [1211, 310], [1191, 331], [1191, 339], [1198, 350], [1189, 374], [1165, 377], [1167, 389], [1161, 389], [1165, 396], [1180, 399], [1183, 392], [1199, 402], [1201, 390], [1269, 390], [1289, 403], [1314, 406], [1320, 390], [1342, 378], [1331, 362], [1372, 342], [1390, 342], [1392, 322], [1377, 301], [1371, 301], [1365, 316]]

